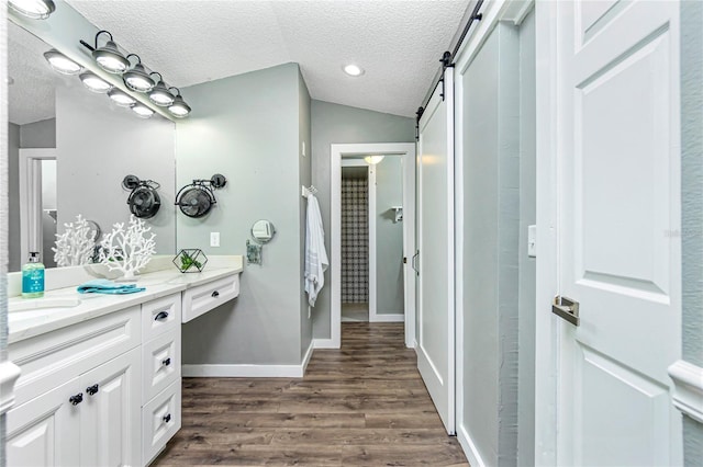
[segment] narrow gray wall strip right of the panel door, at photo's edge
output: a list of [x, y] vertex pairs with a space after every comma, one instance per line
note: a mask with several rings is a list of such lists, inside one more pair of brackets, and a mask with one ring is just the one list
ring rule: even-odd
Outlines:
[[[703, 366], [703, 3], [681, 2], [683, 360]], [[703, 424], [683, 418], [687, 466], [703, 465]]]

